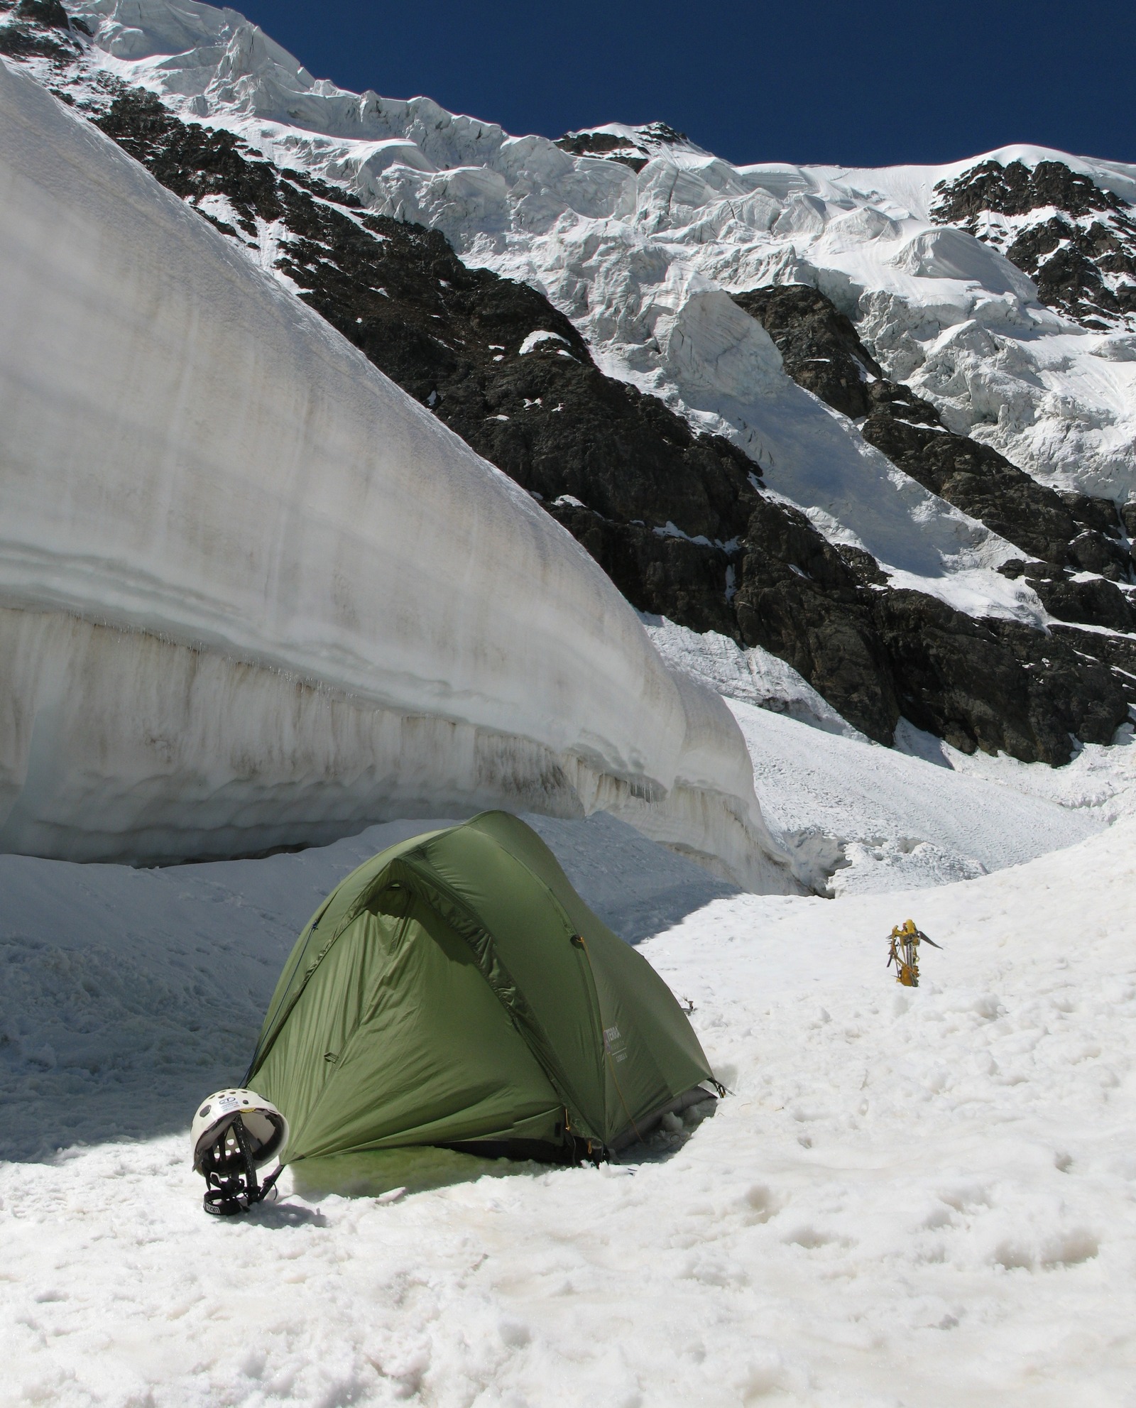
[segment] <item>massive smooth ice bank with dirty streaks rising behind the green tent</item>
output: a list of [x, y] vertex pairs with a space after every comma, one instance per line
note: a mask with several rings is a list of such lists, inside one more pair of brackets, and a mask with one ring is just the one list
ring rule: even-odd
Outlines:
[[0, 848], [508, 803], [791, 884], [728, 711], [574, 541], [0, 65]]

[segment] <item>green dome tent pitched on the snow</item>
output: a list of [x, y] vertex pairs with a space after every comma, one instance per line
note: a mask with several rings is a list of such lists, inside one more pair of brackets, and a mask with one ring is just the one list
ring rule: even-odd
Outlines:
[[300, 935], [245, 1084], [284, 1160], [446, 1145], [572, 1160], [714, 1083], [666, 983], [501, 811], [367, 860]]

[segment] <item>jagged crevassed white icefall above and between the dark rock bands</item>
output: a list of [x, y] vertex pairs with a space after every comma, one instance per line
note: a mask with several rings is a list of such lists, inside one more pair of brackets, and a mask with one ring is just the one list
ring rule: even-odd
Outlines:
[[[100, 75], [149, 87], [283, 166], [442, 230], [466, 262], [546, 293], [605, 370], [731, 435], [771, 490], [805, 507], [833, 541], [866, 546], [904, 584], [963, 610], [977, 603], [1036, 617], [1036, 604], [991, 570], [1009, 556], [1006, 545], [791, 383], [729, 293], [815, 283], [952, 425], [1046, 482], [1136, 496], [1126, 334], [1102, 338], [1043, 308], [997, 249], [929, 218], [936, 182], [978, 158], [876, 172], [735, 168], [659, 128], [597, 128], [626, 144], [635, 170], [542, 137], [510, 137], [429, 99], [315, 80], [231, 10], [86, 0], [72, 13], [94, 37], [72, 73], [55, 79], [75, 96], [90, 97]], [[1032, 163], [1056, 155], [1123, 199], [1136, 196], [1136, 168], [1040, 148], [991, 155]], [[964, 587], [953, 586], [956, 573], [967, 574]]]

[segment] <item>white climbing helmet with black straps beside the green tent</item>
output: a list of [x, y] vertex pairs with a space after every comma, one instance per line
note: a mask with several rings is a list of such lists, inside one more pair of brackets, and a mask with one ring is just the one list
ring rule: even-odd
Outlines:
[[206, 1180], [206, 1212], [229, 1217], [260, 1202], [283, 1173], [283, 1164], [263, 1184], [256, 1170], [287, 1139], [287, 1119], [256, 1091], [218, 1090], [210, 1095], [190, 1129], [193, 1167]]

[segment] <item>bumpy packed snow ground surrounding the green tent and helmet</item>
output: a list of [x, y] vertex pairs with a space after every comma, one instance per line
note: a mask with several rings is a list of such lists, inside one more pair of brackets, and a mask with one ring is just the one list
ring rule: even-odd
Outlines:
[[[618, 824], [598, 818], [597, 850], [581, 831], [595, 821], [553, 825], [577, 828], [593, 874], [618, 870]], [[135, 1084], [117, 1112], [89, 1105], [91, 1084], [115, 1083], [110, 1057], [91, 1069], [97, 1049], [76, 1056], [70, 1038], [53, 1063], [23, 1057], [25, 1108], [61, 1145], [73, 1115], [90, 1145], [0, 1164], [0, 1402], [1132, 1402], [1135, 821], [936, 890], [688, 897], [640, 952], [694, 1002], [731, 1094], [628, 1162], [332, 1160], [286, 1174], [245, 1219], [206, 1218], [186, 1131], [163, 1132], [191, 1110], [166, 1073], [197, 1063], [204, 1094], [251, 1021], [246, 974], [269, 986], [283, 953], [272, 924], [362, 845], [341, 843], [332, 866], [235, 863], [263, 880], [231, 884], [220, 873], [235, 866], [120, 873], [144, 895], [135, 915], [158, 921], [151, 972], [166, 964], [179, 1001], [229, 987], [231, 1025], [208, 1005], [197, 1031], [170, 1024], [151, 1098]], [[3, 866], [7, 972], [37, 932], [56, 945], [27, 964], [39, 1005], [13, 1004], [28, 1041], [68, 1004], [63, 1025], [86, 1014], [93, 1029], [121, 994], [108, 963], [82, 969], [75, 926], [128, 955], [111, 910], [127, 890], [107, 888], [113, 867]], [[633, 869], [652, 867], [639, 855]], [[884, 966], [908, 915], [942, 945], [918, 990]], [[135, 1031], [160, 1029], [162, 995], [135, 1002]], [[108, 1136], [131, 1118], [149, 1136], [96, 1143], [84, 1108]]]

